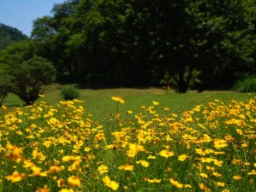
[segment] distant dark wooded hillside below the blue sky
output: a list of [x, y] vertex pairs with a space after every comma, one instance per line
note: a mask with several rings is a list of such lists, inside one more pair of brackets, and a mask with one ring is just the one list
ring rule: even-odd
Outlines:
[[26, 38], [27, 36], [18, 29], [0, 23], [0, 49], [5, 49], [12, 42]]

